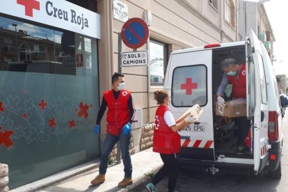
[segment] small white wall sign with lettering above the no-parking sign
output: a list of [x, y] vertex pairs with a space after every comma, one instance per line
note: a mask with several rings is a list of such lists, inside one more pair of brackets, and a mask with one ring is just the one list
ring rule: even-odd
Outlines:
[[128, 6], [118, 0], [113, 0], [113, 18], [122, 22], [128, 20]]

